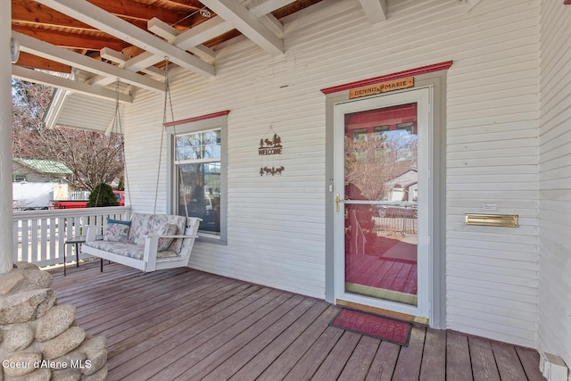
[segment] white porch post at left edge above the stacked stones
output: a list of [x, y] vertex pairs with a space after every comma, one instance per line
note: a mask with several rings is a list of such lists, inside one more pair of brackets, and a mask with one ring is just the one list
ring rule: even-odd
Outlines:
[[12, 0], [0, 0], [0, 274], [12, 269]]

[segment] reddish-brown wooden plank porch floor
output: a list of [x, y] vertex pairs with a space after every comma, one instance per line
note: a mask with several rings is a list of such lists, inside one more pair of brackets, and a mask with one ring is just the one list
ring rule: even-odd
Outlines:
[[329, 327], [327, 302], [194, 269], [51, 272], [107, 338], [108, 380], [544, 380], [535, 351], [422, 326], [401, 347]]

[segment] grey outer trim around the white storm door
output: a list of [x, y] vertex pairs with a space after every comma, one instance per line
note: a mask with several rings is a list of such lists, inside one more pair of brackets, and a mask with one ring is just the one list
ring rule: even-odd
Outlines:
[[[429, 299], [431, 300], [429, 320], [430, 327], [446, 327], [446, 271], [445, 271], [445, 222], [446, 222], [446, 74], [445, 67], [426, 74], [414, 77], [414, 87], [429, 87], [432, 92], [432, 162], [431, 172], [433, 181], [432, 215], [429, 223], [433, 227], [432, 236], [432, 287]], [[362, 82], [362, 81], [360, 81]], [[358, 88], [360, 82], [356, 82]], [[326, 94], [326, 184], [325, 184], [325, 299], [335, 304], [335, 157], [334, 157], [334, 134], [335, 134], [335, 104], [349, 101], [350, 86], [343, 85], [343, 89]], [[406, 91], [406, 90], [404, 90]]]

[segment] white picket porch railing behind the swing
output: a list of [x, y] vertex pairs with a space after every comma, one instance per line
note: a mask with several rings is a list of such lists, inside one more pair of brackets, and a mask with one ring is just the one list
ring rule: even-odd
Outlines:
[[[129, 219], [129, 208], [61, 209], [13, 212], [12, 261], [28, 261], [44, 267], [63, 263], [66, 241], [86, 234], [87, 225], [103, 228], [107, 218]], [[73, 257], [73, 258], [72, 258]], [[67, 261], [75, 256], [67, 255]]]

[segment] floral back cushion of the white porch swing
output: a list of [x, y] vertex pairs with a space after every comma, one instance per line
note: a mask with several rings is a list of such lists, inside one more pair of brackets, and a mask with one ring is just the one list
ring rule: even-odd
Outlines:
[[[167, 228], [167, 225], [174, 225], [177, 230], [174, 234], [170, 234], [174, 230], [173, 227]], [[131, 216], [131, 227], [128, 230], [128, 243], [145, 245], [145, 236], [176, 236], [183, 235], [185, 232], [186, 217], [171, 214], [140, 214], [133, 213]], [[168, 230], [168, 232], [165, 232]], [[174, 253], [180, 253], [182, 247], [182, 239], [165, 238], [162, 243], [167, 250]], [[161, 251], [161, 249], [159, 249]]]

